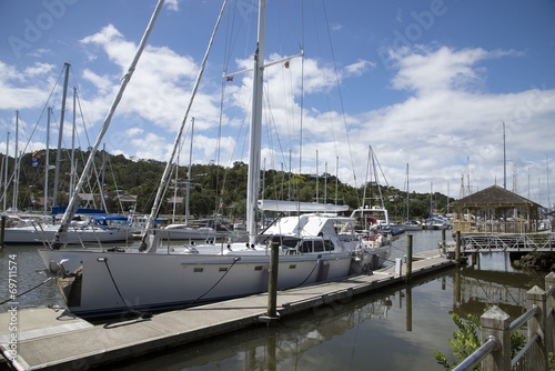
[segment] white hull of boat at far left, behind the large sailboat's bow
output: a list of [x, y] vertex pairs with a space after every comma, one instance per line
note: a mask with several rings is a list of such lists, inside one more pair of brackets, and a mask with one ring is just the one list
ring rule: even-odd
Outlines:
[[[13, 227], [4, 229], [4, 243], [7, 244], [34, 244], [52, 241], [57, 225], [46, 225], [42, 230], [32, 225]], [[78, 228], [68, 231], [68, 243], [98, 243], [98, 242], [121, 242], [131, 235], [127, 229], [100, 229], [100, 228]]]

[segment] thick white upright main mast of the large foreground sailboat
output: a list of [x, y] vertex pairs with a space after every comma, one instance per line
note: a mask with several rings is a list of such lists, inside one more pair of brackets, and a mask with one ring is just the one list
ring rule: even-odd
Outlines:
[[264, 73], [264, 42], [265, 42], [266, 2], [259, 1], [259, 37], [254, 52], [253, 83], [252, 83], [252, 122], [249, 150], [249, 184], [246, 190], [246, 232], [249, 243], [256, 243], [256, 212], [260, 187], [260, 158], [262, 141], [262, 91]]

